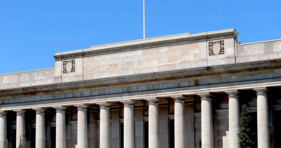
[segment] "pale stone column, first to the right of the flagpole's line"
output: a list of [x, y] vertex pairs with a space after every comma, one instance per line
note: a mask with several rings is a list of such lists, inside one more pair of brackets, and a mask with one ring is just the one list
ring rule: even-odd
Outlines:
[[148, 147], [160, 148], [158, 100], [148, 100]]

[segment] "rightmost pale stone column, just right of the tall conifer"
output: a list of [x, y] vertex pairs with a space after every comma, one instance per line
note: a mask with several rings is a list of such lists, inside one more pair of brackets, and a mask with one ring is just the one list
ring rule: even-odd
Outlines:
[[258, 148], [269, 148], [269, 116], [266, 88], [255, 89], [257, 92], [257, 136]]

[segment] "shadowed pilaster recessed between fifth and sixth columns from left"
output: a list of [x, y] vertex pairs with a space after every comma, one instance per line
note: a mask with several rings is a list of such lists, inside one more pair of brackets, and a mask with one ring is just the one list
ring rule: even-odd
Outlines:
[[89, 110], [88, 148], [98, 148], [97, 111]]

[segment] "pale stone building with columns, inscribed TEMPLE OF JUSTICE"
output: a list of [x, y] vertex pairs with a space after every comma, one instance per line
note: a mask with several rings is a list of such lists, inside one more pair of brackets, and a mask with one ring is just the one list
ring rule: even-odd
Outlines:
[[[0, 75], [0, 148], [281, 148], [281, 39], [235, 29], [92, 46]], [[279, 114], [279, 115], [278, 115]]]

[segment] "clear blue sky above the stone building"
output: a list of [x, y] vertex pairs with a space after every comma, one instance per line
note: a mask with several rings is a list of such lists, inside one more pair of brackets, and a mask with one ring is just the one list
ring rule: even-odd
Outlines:
[[[281, 38], [280, 0], [146, 0], [146, 38], [236, 28]], [[51, 68], [56, 52], [142, 38], [142, 0], [0, 0], [0, 74]]]

